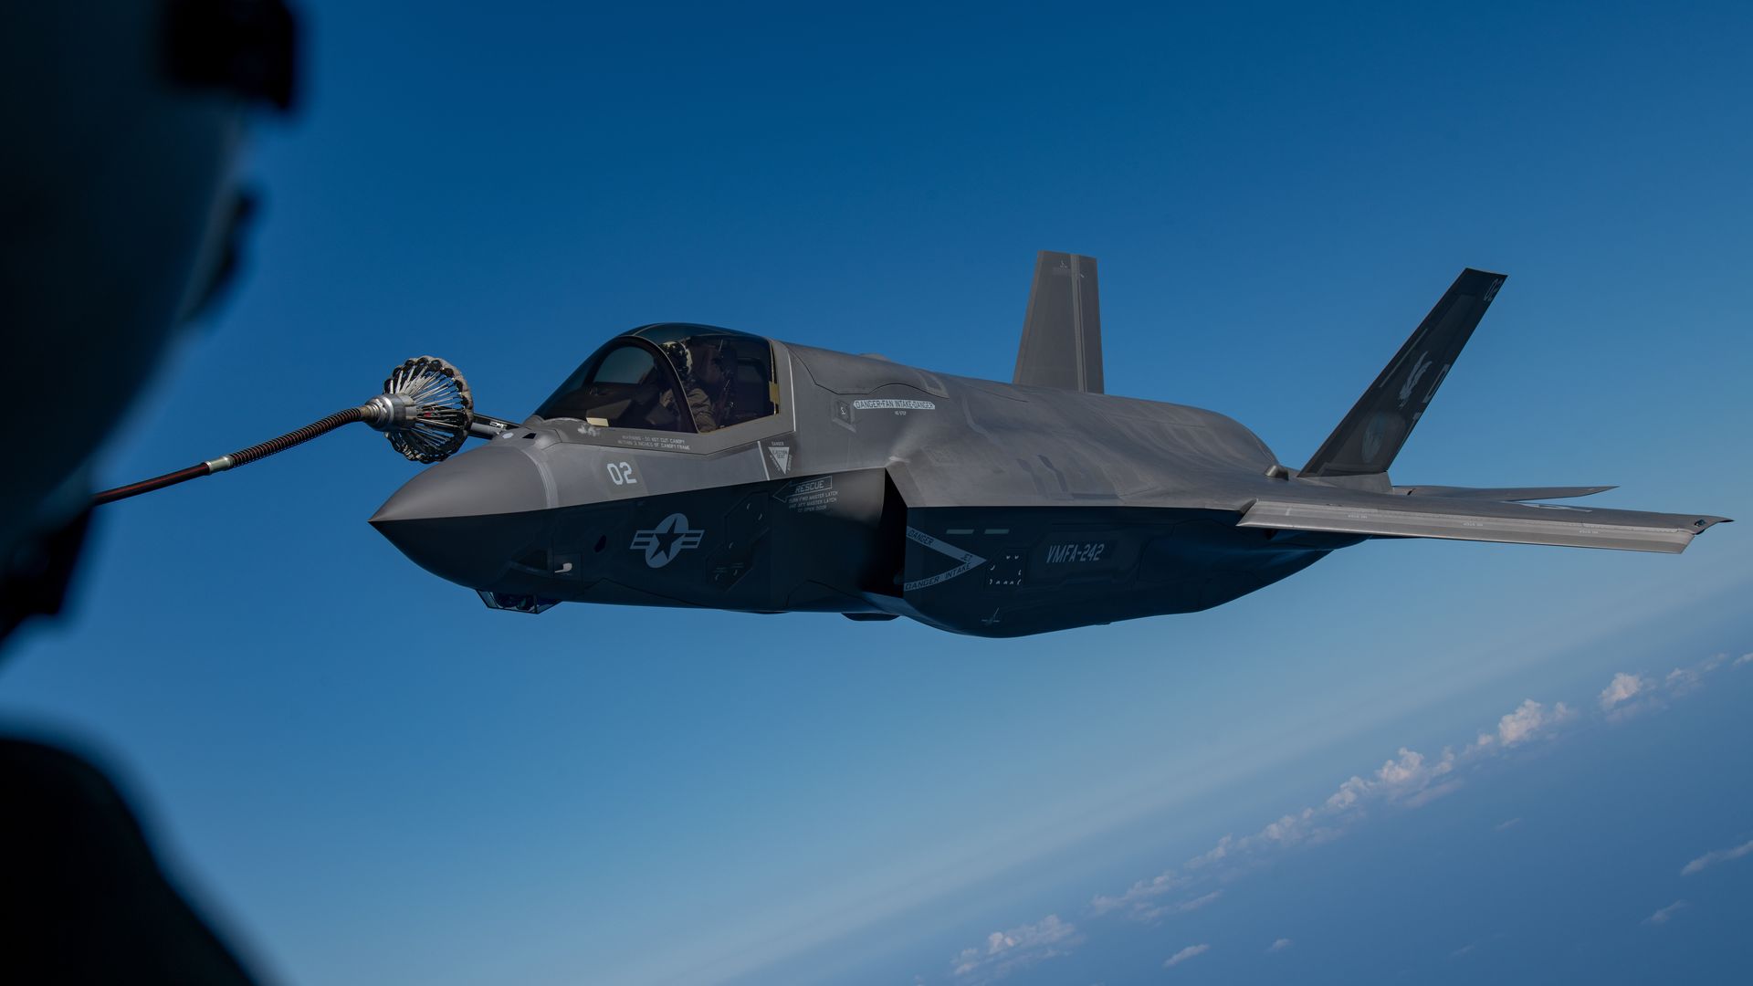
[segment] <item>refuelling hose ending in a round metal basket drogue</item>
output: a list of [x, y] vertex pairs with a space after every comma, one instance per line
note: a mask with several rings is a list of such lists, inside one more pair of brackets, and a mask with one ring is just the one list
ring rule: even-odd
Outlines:
[[317, 435], [326, 435], [342, 425], [365, 421], [372, 428], [384, 432], [410, 461], [433, 463], [451, 458], [472, 435], [491, 439], [493, 435], [514, 428], [510, 421], [475, 414], [475, 402], [468, 393], [468, 381], [463, 374], [436, 356], [415, 356], [407, 360], [384, 381], [384, 393], [361, 404], [337, 411], [321, 421], [312, 421], [296, 432], [287, 432], [277, 439], [268, 439], [258, 446], [238, 449], [228, 456], [219, 456], [188, 468], [167, 472], [128, 486], [105, 489], [91, 498], [93, 505], [112, 504], [151, 493], [189, 479], [200, 479], [228, 468], [284, 453], [293, 446], [302, 446]]

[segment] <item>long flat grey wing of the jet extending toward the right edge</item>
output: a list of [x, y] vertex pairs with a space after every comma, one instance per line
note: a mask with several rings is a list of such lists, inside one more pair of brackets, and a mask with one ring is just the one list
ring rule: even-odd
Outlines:
[[[1367, 500], [1366, 500], [1367, 497]], [[1348, 502], [1257, 500], [1241, 518], [1245, 528], [1366, 533], [1374, 537], [1439, 537], [1662, 551], [1679, 554], [1692, 537], [1728, 518], [1648, 514], [1643, 511], [1585, 511], [1471, 500], [1401, 509], [1404, 498], [1353, 495]], [[1387, 500], [1392, 505], [1374, 505]]]

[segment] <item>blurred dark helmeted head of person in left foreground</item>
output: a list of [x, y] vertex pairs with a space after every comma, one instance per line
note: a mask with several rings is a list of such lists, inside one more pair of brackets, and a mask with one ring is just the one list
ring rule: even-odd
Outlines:
[[7, 447], [0, 635], [60, 607], [91, 454], [238, 267], [237, 158], [293, 42], [279, 0], [0, 9], [0, 365], [42, 416]]

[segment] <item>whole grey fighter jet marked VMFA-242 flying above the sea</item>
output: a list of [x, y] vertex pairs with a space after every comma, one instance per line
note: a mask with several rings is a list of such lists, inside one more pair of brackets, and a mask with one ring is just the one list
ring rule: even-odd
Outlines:
[[1210, 609], [1369, 539], [1679, 553], [1725, 521], [1544, 502], [1611, 486], [1388, 477], [1502, 284], [1464, 270], [1302, 468], [1222, 414], [1103, 393], [1096, 261], [1041, 253], [1008, 384], [647, 325], [372, 525], [494, 609], [841, 612], [1020, 637]]

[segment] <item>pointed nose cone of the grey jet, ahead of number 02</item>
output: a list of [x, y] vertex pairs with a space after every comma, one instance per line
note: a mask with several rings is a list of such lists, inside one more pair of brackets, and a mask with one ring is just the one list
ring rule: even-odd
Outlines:
[[522, 449], [491, 444], [433, 465], [372, 514], [372, 526], [440, 579], [491, 589], [538, 546], [547, 482]]

